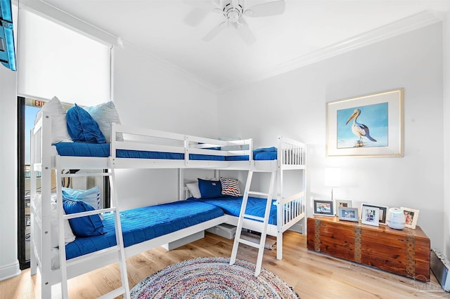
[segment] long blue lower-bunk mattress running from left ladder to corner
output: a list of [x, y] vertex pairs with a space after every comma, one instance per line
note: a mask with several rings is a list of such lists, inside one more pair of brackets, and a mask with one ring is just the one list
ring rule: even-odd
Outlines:
[[[200, 201], [175, 201], [120, 212], [124, 246], [128, 247], [224, 215], [221, 208]], [[66, 258], [92, 253], [116, 244], [113, 213], [103, 214], [105, 234], [77, 237], [65, 246]]]

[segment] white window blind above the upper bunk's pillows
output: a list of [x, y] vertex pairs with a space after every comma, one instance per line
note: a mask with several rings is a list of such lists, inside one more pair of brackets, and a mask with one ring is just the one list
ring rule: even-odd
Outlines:
[[110, 47], [20, 8], [18, 94], [95, 105], [110, 100]]

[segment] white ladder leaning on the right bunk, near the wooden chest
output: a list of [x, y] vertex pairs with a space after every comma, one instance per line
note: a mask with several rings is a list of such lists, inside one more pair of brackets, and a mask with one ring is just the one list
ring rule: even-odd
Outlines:
[[[264, 245], [266, 244], [267, 224], [269, 223], [270, 208], [271, 208], [271, 204], [272, 204], [272, 195], [274, 193], [274, 185], [275, 185], [275, 180], [276, 180], [276, 171], [271, 171], [271, 178], [270, 178], [270, 185], [269, 185], [268, 193], [250, 191], [252, 177], [253, 177], [253, 171], [250, 170], [250, 171], [248, 171], [247, 183], [245, 184], [245, 191], [244, 191], [242, 206], [240, 206], [238, 227], [236, 228], [236, 237], [234, 238], [233, 250], [231, 251], [230, 265], [233, 265], [234, 263], [236, 263], [236, 255], [238, 254], [238, 247], [239, 247], [240, 243], [258, 248], [257, 263], [256, 263], [256, 269], [255, 269], [255, 276], [258, 276], [259, 273], [261, 272], [262, 256], [264, 255]], [[247, 208], [248, 196], [250, 194], [266, 197], [266, 210], [264, 212], [264, 218], [245, 213], [245, 210]], [[257, 230], [257, 232], [260, 232], [261, 237], [259, 239], [259, 243], [255, 243], [253, 241], [249, 241], [247, 239], [241, 238], [240, 236], [241, 236], [241, 232], [242, 232], [243, 228]]]

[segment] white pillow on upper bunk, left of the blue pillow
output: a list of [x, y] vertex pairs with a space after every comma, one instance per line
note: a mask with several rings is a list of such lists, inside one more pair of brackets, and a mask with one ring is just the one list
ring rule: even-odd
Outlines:
[[53, 97], [49, 102], [46, 102], [37, 113], [34, 124], [42, 117], [42, 112], [48, 112], [51, 115], [51, 143], [72, 142], [72, 138], [70, 138], [68, 133], [68, 124], [65, 120], [66, 112], [60, 100]]

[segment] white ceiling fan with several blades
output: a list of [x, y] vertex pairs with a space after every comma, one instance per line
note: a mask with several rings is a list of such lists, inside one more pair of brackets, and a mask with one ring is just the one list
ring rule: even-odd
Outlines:
[[[200, 8], [203, 12], [219, 13], [224, 18], [222, 22], [203, 36], [203, 41], [211, 41], [224, 28], [233, 26], [247, 44], [252, 44], [256, 41], [256, 38], [244, 17], [259, 18], [281, 15], [285, 10], [284, 0], [269, 1], [253, 6], [246, 6], [245, 0], [185, 0], [185, 2], [195, 8]], [[197, 25], [205, 16], [201, 11], [193, 11], [186, 17], [185, 22], [190, 25]]]

